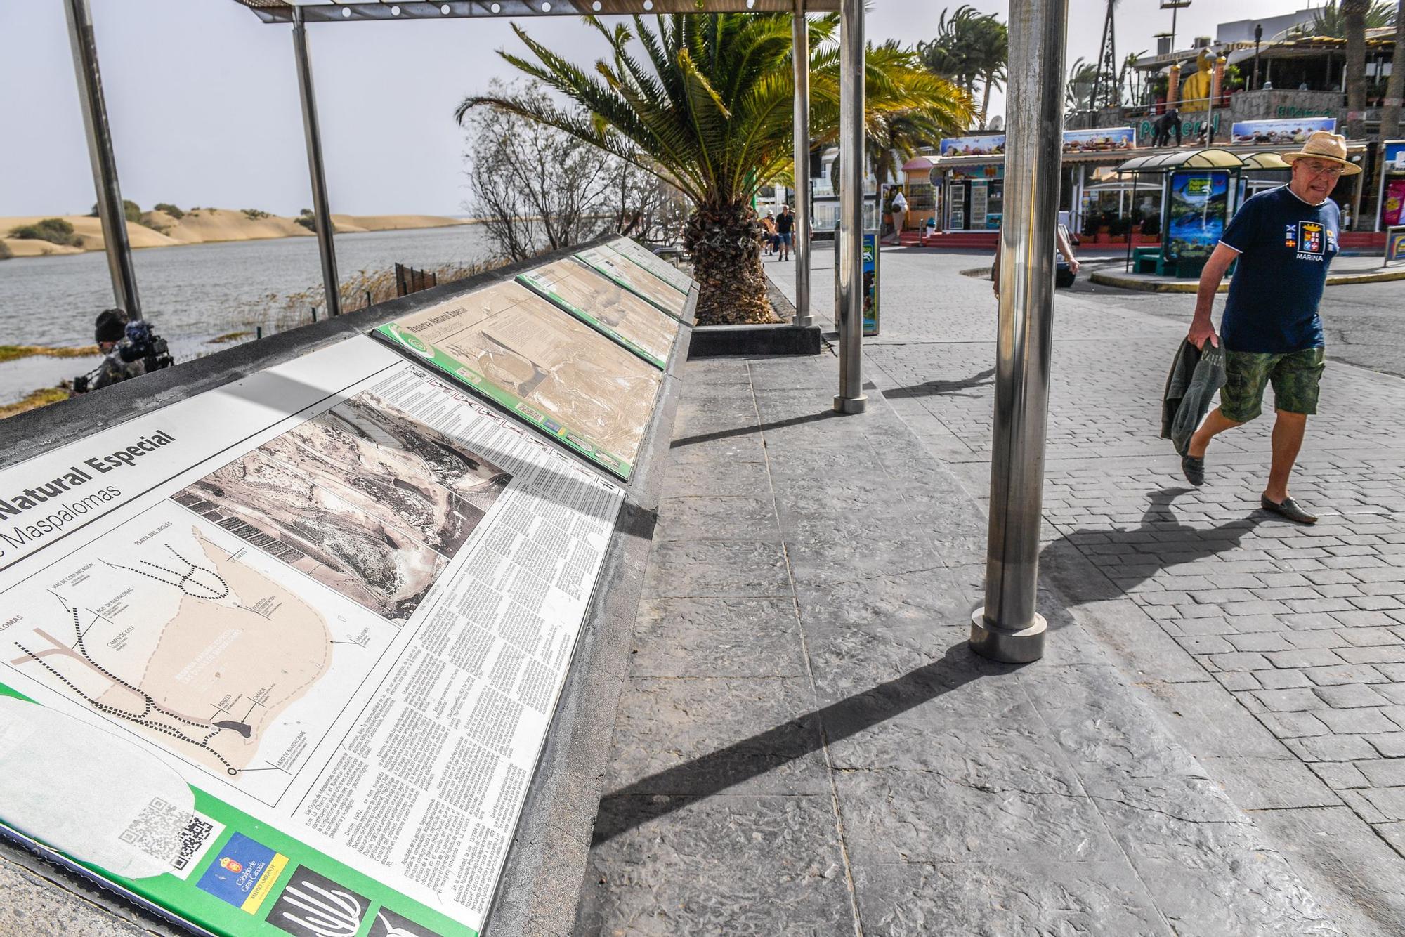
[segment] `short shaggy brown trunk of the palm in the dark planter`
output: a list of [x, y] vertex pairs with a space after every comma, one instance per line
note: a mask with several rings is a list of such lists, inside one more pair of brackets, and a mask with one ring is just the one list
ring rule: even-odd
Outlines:
[[763, 228], [750, 205], [700, 205], [688, 216], [683, 246], [698, 281], [700, 326], [774, 322], [766, 298]]

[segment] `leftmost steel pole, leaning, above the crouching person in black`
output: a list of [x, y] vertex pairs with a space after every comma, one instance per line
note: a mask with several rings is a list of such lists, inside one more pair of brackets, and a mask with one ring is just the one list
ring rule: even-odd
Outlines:
[[112, 155], [112, 131], [107, 124], [103, 76], [97, 70], [97, 42], [93, 38], [93, 14], [87, 0], [67, 0], [63, 11], [69, 20], [69, 44], [73, 46], [73, 70], [79, 77], [79, 101], [83, 104], [83, 129], [93, 163], [93, 188], [97, 190], [97, 216], [103, 222], [107, 270], [112, 278], [112, 299], [129, 319], [142, 317], [136, 295], [136, 271], [132, 268], [132, 244], [126, 239], [126, 212], [122, 190], [117, 184], [117, 157]]

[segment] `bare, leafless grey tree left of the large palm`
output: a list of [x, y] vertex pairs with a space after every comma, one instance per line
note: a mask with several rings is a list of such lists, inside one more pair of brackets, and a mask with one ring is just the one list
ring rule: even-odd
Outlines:
[[[547, 96], [509, 89], [493, 94]], [[462, 121], [468, 131], [465, 208], [510, 260], [615, 232], [672, 240], [681, 230], [681, 197], [658, 177], [555, 128], [492, 107]]]

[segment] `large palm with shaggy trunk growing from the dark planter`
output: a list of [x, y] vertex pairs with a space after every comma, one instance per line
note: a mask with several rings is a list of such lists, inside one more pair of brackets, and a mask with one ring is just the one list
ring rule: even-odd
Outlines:
[[[701, 284], [698, 322], [771, 320], [757, 244], [762, 226], [752, 198], [792, 164], [791, 15], [714, 14], [642, 17], [634, 28], [610, 28], [594, 17], [613, 58], [596, 74], [531, 39], [514, 24], [531, 59], [499, 52], [520, 72], [549, 86], [577, 108], [524, 96], [465, 98], [459, 121], [475, 107], [497, 107], [576, 136], [653, 173], [693, 204], [684, 246]], [[839, 18], [812, 20], [811, 125], [819, 140], [839, 133]], [[635, 58], [634, 41], [645, 58]], [[962, 126], [969, 97], [926, 72], [912, 52], [870, 52], [865, 121], [917, 111], [944, 128]]]

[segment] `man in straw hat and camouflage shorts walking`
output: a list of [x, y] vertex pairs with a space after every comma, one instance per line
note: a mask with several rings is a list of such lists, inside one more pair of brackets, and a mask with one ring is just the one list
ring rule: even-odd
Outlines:
[[[1197, 348], [1207, 341], [1218, 347], [1224, 339], [1227, 382], [1220, 406], [1190, 437], [1180, 465], [1187, 482], [1204, 485], [1210, 440], [1259, 416], [1263, 391], [1272, 384], [1273, 462], [1259, 503], [1290, 521], [1315, 524], [1316, 517], [1288, 494], [1288, 476], [1308, 417], [1316, 413], [1324, 368], [1318, 303], [1342, 230], [1340, 212], [1328, 197], [1342, 176], [1361, 170], [1346, 159], [1346, 138], [1326, 131], [1312, 133], [1301, 150], [1283, 159], [1293, 164], [1293, 180], [1239, 208], [1200, 274], [1186, 339]], [[1239, 267], [1217, 336], [1210, 312], [1235, 260]]]

